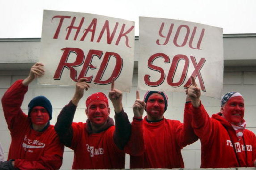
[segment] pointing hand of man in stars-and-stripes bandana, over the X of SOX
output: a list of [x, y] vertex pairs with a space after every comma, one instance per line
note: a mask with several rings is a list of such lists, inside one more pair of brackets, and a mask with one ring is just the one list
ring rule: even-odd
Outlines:
[[195, 82], [195, 78], [191, 76], [192, 79], [192, 85], [188, 86], [188, 89], [186, 90], [186, 94], [192, 101], [192, 105], [194, 107], [200, 106], [200, 96], [201, 96], [201, 89], [197, 86]]

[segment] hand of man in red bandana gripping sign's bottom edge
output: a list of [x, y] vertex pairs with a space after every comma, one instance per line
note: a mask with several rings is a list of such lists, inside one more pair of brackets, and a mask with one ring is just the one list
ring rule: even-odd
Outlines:
[[78, 82], [76, 83], [76, 91], [74, 94], [74, 97], [72, 98], [72, 103], [74, 105], [78, 105], [78, 102], [84, 95], [84, 90], [88, 90], [90, 88], [90, 85], [86, 83], [87, 78], [80, 78]]

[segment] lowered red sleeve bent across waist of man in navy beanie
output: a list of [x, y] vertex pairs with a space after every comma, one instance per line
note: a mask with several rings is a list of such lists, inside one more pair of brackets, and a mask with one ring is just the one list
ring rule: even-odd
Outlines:
[[51, 144], [45, 149], [44, 154], [37, 161], [15, 159], [15, 167], [20, 170], [35, 169], [60, 169], [62, 165], [64, 145], [60, 144], [57, 135], [54, 135]]

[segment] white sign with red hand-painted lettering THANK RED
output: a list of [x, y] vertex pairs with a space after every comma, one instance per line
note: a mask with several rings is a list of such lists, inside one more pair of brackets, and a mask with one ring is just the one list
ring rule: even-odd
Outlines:
[[134, 22], [106, 16], [44, 10], [40, 84], [75, 85], [130, 92], [134, 63]]

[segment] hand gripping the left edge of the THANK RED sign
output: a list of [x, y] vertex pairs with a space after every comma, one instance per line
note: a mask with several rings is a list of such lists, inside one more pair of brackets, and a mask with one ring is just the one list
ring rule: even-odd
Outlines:
[[44, 75], [44, 64], [42, 63], [36, 63], [34, 64], [29, 72], [29, 75], [27, 78], [25, 78], [23, 80], [23, 85], [27, 86], [29, 85], [29, 83], [31, 83], [35, 78], [41, 77], [42, 75]]

